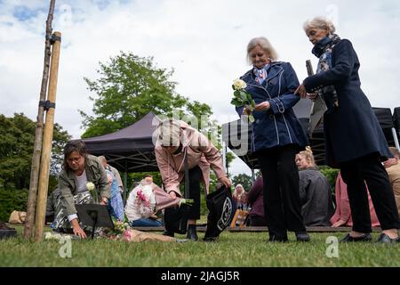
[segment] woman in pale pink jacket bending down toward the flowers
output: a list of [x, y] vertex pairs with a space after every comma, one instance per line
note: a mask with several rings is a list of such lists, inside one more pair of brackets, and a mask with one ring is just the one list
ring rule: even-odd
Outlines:
[[[188, 214], [188, 239], [197, 240], [196, 220], [200, 218], [200, 183], [204, 183], [205, 194], [210, 184], [210, 167], [220, 183], [230, 187], [225, 174], [220, 152], [207, 140], [183, 121], [166, 119], [158, 126], [156, 161], [160, 169], [165, 190], [172, 199], [181, 196], [180, 183], [184, 182], [184, 159], [188, 157], [189, 199], [195, 204]], [[173, 232], [164, 234], [173, 236]]]

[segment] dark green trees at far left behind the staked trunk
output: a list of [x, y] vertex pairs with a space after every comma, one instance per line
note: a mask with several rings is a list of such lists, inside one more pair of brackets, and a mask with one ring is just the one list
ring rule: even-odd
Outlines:
[[[62, 150], [70, 136], [59, 124], [54, 125], [51, 175], [57, 175], [62, 161]], [[35, 141], [35, 122], [23, 113], [13, 118], [0, 115], [0, 188], [29, 187], [29, 175]], [[51, 179], [52, 181], [52, 179]], [[52, 183], [49, 183], [53, 186]]]

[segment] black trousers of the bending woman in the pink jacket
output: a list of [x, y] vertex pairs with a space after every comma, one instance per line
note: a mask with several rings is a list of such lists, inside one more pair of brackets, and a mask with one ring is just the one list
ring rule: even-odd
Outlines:
[[[198, 220], [200, 218], [200, 183], [202, 182], [202, 169], [198, 166], [189, 169], [189, 199], [194, 199], [195, 203], [189, 207], [188, 219]], [[185, 177], [181, 183], [185, 183]], [[185, 190], [186, 191], [186, 190]]]

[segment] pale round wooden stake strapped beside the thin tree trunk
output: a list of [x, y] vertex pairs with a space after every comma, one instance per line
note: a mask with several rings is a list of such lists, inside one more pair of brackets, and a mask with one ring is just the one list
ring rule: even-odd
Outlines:
[[57, 77], [59, 72], [61, 33], [52, 35], [52, 63], [50, 67], [49, 95], [47, 98], [49, 109], [46, 112], [44, 125], [43, 148], [39, 173], [39, 187], [37, 193], [35, 241], [42, 241], [44, 216], [46, 212], [47, 188], [49, 187], [50, 159], [52, 154], [52, 130], [54, 126], [54, 108], [57, 91]]

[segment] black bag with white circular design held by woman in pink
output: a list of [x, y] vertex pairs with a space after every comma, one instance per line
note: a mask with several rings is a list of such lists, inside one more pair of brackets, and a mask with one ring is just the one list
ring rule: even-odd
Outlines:
[[204, 241], [214, 241], [220, 236], [232, 216], [232, 193], [222, 185], [217, 191], [214, 191], [206, 197], [207, 208], [207, 228], [204, 234]]

